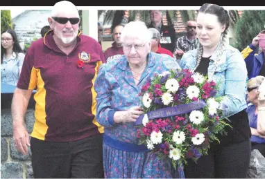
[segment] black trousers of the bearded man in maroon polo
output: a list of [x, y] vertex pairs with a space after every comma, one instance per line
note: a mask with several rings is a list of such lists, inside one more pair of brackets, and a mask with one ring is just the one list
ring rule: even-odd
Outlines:
[[31, 138], [34, 178], [104, 178], [103, 135], [73, 142]]

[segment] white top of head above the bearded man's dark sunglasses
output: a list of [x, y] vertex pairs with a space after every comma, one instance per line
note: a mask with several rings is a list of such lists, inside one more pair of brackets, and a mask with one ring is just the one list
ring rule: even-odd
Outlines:
[[78, 9], [74, 5], [74, 3], [71, 3], [70, 1], [59, 1], [55, 3], [53, 10], [51, 11], [51, 17], [56, 17], [61, 12], [67, 12], [69, 14], [71, 13], [79, 17]]

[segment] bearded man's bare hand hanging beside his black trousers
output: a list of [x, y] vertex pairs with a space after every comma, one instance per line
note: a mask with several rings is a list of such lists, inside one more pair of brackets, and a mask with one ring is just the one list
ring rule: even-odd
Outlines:
[[31, 144], [28, 131], [26, 131], [23, 124], [13, 124], [13, 140], [15, 148], [23, 155], [26, 155], [28, 153], [27, 145], [31, 146]]

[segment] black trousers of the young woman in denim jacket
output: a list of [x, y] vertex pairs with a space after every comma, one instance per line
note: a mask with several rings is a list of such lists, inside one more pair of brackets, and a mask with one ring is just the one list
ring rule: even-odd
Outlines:
[[207, 156], [188, 160], [185, 178], [246, 178], [250, 162], [250, 140], [214, 147]]

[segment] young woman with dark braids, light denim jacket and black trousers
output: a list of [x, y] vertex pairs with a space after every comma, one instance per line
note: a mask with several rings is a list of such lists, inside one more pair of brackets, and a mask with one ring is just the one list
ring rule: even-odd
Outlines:
[[250, 129], [246, 113], [247, 69], [239, 50], [226, 42], [230, 17], [216, 4], [205, 3], [198, 10], [198, 48], [183, 55], [180, 66], [207, 75], [219, 85], [223, 97], [220, 109], [232, 126], [227, 135], [212, 143], [207, 156], [185, 166], [187, 178], [246, 178], [250, 161]]

